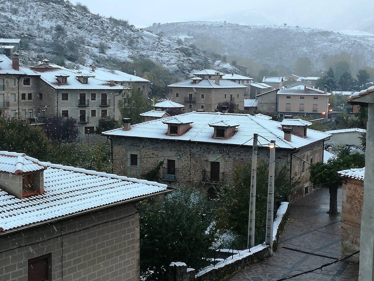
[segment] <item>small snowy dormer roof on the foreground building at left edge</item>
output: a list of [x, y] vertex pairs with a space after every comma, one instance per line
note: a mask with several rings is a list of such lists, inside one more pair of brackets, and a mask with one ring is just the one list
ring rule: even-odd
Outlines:
[[39, 160], [23, 153], [0, 151], [0, 173], [19, 175], [22, 173], [44, 170]]

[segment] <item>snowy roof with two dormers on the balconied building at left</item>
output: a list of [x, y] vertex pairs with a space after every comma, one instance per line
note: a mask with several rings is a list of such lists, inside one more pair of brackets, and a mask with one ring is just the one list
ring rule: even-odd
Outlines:
[[[88, 79], [88, 84], [81, 83], [77, 77], [82, 77], [82, 73], [74, 73], [68, 69], [59, 67], [30, 67], [30, 70], [40, 75], [40, 78], [55, 89], [73, 89], [73, 90], [118, 90], [124, 89], [123, 86], [113, 84], [93, 77]], [[56, 76], [69, 76], [66, 84], [58, 81]]]

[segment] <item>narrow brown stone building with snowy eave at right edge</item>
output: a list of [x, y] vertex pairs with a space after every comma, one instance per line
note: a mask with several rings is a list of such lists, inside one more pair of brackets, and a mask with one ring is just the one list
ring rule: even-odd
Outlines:
[[[360, 250], [362, 203], [364, 202], [365, 168], [338, 172], [343, 178], [343, 202], [341, 204], [341, 256]], [[356, 254], [350, 258], [359, 262]]]

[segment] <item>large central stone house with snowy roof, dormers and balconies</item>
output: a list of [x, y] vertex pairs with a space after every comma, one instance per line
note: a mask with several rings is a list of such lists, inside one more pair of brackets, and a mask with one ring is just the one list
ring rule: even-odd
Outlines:
[[114, 172], [142, 178], [158, 169], [160, 182], [206, 189], [229, 181], [237, 164], [251, 161], [254, 133], [259, 135], [259, 160], [269, 161], [267, 145], [275, 140], [277, 164], [289, 167], [288, 176], [301, 179], [292, 200], [313, 191], [308, 168], [323, 161], [324, 141], [330, 136], [307, 129], [311, 123], [303, 120], [279, 123], [264, 115], [220, 112], [190, 112], [124, 125], [103, 133], [112, 142]]

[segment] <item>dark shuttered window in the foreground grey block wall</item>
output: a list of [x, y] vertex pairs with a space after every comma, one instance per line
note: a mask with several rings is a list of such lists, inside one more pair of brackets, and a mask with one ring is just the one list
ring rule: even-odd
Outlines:
[[28, 260], [27, 280], [52, 280], [51, 254]]

